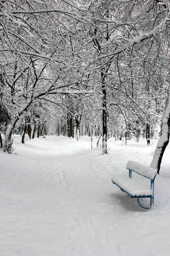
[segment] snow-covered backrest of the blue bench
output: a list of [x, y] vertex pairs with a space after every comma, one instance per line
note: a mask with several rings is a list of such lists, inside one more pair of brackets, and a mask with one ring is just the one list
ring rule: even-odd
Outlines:
[[157, 174], [155, 169], [145, 166], [142, 163], [136, 163], [134, 161], [128, 161], [126, 168], [150, 180], [154, 180]]

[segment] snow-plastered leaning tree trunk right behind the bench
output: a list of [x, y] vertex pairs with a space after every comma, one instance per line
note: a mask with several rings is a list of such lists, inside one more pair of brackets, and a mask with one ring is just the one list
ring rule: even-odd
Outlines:
[[153, 155], [152, 163], [150, 164], [150, 167], [153, 169], [156, 169], [158, 174], [159, 174], [161, 160], [162, 160], [165, 148], [169, 143], [169, 138], [170, 138], [170, 98], [164, 114], [164, 119], [162, 121], [161, 137], [159, 138], [155, 153]]

